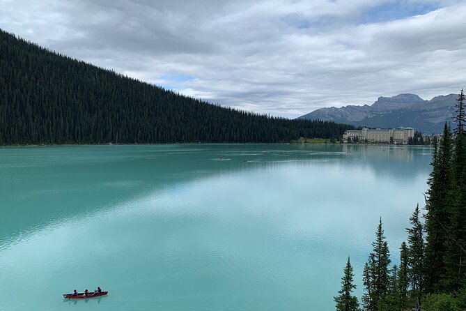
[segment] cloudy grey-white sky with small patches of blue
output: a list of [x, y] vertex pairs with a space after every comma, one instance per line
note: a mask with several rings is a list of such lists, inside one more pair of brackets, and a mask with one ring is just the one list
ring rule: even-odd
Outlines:
[[466, 88], [464, 0], [0, 0], [0, 28], [274, 116]]

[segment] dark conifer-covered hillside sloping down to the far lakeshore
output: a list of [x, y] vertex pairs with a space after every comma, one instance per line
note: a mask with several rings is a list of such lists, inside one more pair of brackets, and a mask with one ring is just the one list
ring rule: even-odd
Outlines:
[[289, 142], [345, 126], [212, 105], [56, 54], [0, 29], [0, 144]]

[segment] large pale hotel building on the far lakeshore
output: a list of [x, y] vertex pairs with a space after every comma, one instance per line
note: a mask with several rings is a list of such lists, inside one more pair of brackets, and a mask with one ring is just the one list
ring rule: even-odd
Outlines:
[[343, 134], [343, 142], [350, 140], [362, 139], [368, 142], [381, 142], [384, 144], [407, 144], [408, 139], [414, 137], [414, 128], [396, 128], [389, 130], [347, 130]]

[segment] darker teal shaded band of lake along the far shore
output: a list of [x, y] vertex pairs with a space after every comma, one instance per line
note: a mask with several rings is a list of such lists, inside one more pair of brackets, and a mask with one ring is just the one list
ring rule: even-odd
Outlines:
[[327, 161], [377, 166], [379, 172], [403, 178], [415, 169], [414, 157], [430, 161], [424, 155], [429, 153], [428, 148], [408, 146], [288, 144], [0, 148], [0, 250], [43, 227], [108, 211], [182, 183]]

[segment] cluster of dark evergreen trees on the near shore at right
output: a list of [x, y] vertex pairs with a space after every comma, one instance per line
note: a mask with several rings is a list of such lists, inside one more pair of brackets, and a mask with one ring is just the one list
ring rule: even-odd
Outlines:
[[341, 290], [334, 297], [338, 311], [463, 311], [466, 310], [466, 135], [465, 93], [456, 103], [453, 134], [445, 124], [435, 142], [428, 179], [426, 212], [419, 205], [410, 218], [407, 241], [398, 265], [391, 266], [380, 219], [373, 252], [364, 265], [364, 295], [352, 294], [353, 268], [348, 257]]

